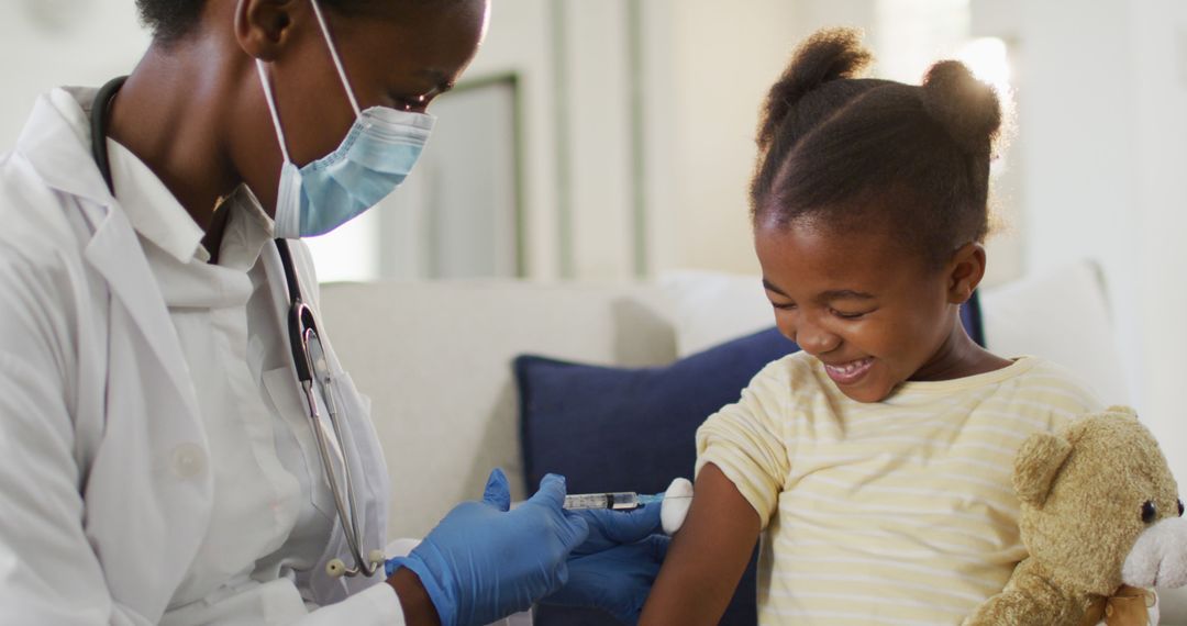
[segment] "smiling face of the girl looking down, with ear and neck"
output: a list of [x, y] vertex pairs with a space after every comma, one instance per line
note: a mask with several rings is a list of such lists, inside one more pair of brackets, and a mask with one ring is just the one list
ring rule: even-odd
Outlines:
[[908, 379], [966, 376], [988, 354], [957, 322], [957, 307], [984, 273], [980, 245], [934, 268], [878, 230], [810, 218], [755, 229], [780, 332], [858, 402], [881, 401]]

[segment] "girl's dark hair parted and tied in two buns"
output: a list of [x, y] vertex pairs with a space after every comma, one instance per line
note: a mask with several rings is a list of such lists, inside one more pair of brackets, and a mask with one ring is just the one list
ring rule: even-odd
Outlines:
[[891, 229], [938, 267], [989, 230], [1001, 106], [959, 62], [937, 63], [918, 87], [858, 77], [871, 58], [852, 30], [796, 50], [762, 110], [753, 218]]

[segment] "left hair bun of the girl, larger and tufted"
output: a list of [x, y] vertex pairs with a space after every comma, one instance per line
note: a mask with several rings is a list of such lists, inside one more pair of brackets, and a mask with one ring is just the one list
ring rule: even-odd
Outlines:
[[810, 91], [840, 78], [855, 78], [869, 66], [874, 55], [862, 45], [856, 28], [817, 31], [795, 49], [791, 64], [770, 88], [758, 126], [758, 147], [766, 148], [788, 113]]

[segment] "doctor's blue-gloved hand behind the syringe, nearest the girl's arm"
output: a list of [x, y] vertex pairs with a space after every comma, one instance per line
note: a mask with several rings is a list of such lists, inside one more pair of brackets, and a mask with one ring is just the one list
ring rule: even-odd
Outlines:
[[660, 506], [580, 515], [589, 538], [569, 560], [569, 582], [541, 602], [597, 607], [636, 624], [667, 554], [669, 539], [659, 535]]

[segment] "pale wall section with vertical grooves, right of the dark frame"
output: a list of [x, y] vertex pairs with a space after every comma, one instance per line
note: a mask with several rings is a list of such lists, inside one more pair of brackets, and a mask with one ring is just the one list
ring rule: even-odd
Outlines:
[[495, 0], [466, 75], [520, 78], [533, 279], [634, 274], [627, 20], [627, 0]]

